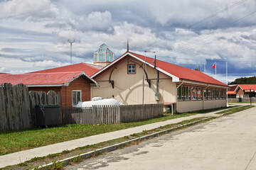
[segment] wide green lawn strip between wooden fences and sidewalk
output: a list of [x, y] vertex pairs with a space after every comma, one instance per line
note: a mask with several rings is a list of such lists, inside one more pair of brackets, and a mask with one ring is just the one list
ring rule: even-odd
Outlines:
[[36, 128], [18, 132], [0, 132], [0, 155], [10, 154], [21, 150], [42, 147], [58, 142], [75, 140], [81, 137], [98, 135], [127, 128], [156, 123], [174, 118], [181, 118], [196, 113], [182, 113], [176, 115], [164, 115], [160, 118], [152, 118], [134, 123], [119, 123], [112, 125], [60, 125], [57, 128]]

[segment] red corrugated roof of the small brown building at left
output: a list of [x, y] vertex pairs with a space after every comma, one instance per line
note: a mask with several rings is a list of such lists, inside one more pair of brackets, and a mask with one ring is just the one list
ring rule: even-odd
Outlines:
[[63, 72], [63, 73], [35, 73], [35, 74], [1, 74], [0, 84], [65, 84], [68, 81], [78, 77], [82, 72]]

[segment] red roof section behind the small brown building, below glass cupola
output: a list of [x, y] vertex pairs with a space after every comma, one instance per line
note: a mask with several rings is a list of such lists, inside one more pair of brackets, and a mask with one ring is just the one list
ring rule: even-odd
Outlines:
[[34, 74], [34, 73], [56, 73], [56, 72], [85, 72], [88, 76], [92, 76], [92, 74], [95, 74], [98, 72], [100, 69], [93, 67], [91, 64], [85, 64], [83, 62], [79, 64], [72, 64], [68, 66], [63, 66], [63, 67], [56, 67], [53, 69], [44, 69], [41, 71], [37, 72], [30, 72], [29, 74]]

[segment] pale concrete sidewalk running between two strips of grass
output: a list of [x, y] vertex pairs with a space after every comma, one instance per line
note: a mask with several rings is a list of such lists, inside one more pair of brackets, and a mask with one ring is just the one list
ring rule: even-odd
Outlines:
[[191, 120], [193, 118], [200, 118], [203, 116], [213, 116], [213, 117], [220, 116], [220, 115], [216, 115], [215, 114], [216, 112], [218, 111], [205, 113], [205, 114], [191, 115], [188, 117], [176, 118], [172, 120], [166, 120], [164, 122], [159, 122], [159, 123], [151, 123], [148, 125], [142, 125], [134, 128], [118, 130], [114, 132], [107, 132], [104, 134], [94, 135], [90, 137], [84, 137], [78, 140], [70, 140], [67, 142], [60, 142], [60, 143], [48, 145], [45, 147], [38, 147], [34, 149], [24, 150], [21, 152], [15, 152], [12, 154], [6, 154], [3, 156], [0, 156], [0, 168], [3, 168], [5, 166], [21, 164], [30, 159], [33, 159], [34, 157], [44, 157], [44, 156], [47, 156], [48, 154], [56, 154], [56, 153], [63, 152], [64, 150], [71, 150], [78, 147], [85, 147], [86, 145], [94, 145], [100, 142], [114, 140], [119, 137], [124, 137], [128, 135], [132, 135], [134, 133], [142, 132], [143, 130], [151, 130], [154, 128], [159, 128], [160, 126], [164, 126], [164, 125], [180, 123], [183, 120]]

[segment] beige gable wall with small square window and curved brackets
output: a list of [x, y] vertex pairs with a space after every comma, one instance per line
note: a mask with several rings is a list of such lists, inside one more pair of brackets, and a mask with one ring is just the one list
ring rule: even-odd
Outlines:
[[[125, 105], [142, 104], [143, 70], [140, 68], [142, 62], [129, 57], [129, 64], [136, 64], [136, 74], [127, 74], [127, 57], [125, 57], [122, 63], [118, 64], [117, 69], [114, 69], [113, 72], [112, 68], [110, 68], [100, 74], [99, 77], [93, 78], [100, 84], [100, 87], [91, 87], [91, 97], [100, 96], [102, 98], [111, 98], [113, 95], [117, 101]], [[111, 80], [114, 80], [114, 89], [112, 89], [112, 85], [108, 81], [111, 72]], [[157, 71], [147, 66], [146, 72], [149, 79], [151, 79], [151, 88], [149, 88], [149, 84], [144, 81], [144, 103], [176, 102], [176, 84], [172, 82], [171, 77], [159, 72], [160, 100], [156, 101]]]

